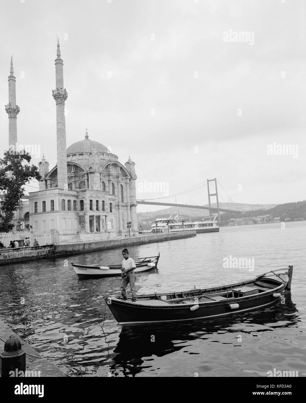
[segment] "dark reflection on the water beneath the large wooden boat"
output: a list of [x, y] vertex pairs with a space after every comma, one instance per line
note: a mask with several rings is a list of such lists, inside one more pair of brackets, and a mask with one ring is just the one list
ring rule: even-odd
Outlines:
[[[196, 320], [180, 324], [125, 325], [119, 336], [116, 355], [110, 370], [113, 374], [135, 376], [150, 368], [149, 357], [162, 357], [181, 349], [186, 349], [194, 341], [211, 340], [214, 334], [226, 334], [221, 343], [239, 344], [230, 333], [252, 334], [273, 331], [273, 324], [281, 327], [294, 326], [299, 320], [295, 314], [296, 304], [291, 295], [286, 296], [285, 304], [275, 304], [265, 310], [236, 314], [205, 321]], [[272, 325], [272, 326], [271, 326]], [[274, 326], [273, 326], [274, 327]], [[152, 358], [153, 360], [153, 358]], [[144, 363], [147, 365], [144, 365]]]

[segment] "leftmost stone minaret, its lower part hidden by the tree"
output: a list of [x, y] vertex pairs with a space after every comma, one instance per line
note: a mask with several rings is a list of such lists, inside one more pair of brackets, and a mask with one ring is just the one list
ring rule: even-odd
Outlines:
[[[10, 75], [8, 76], [8, 104], [5, 105], [8, 114], [8, 147], [15, 150], [17, 147], [17, 115], [19, 106], [16, 105], [16, 77], [14, 76], [13, 58], [10, 58]], [[12, 148], [14, 147], [14, 148]]]

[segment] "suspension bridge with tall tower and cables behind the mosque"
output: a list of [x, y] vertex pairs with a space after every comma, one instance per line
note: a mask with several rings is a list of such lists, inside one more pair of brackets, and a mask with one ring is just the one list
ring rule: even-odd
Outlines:
[[[213, 182], [215, 182], [215, 185], [213, 185]], [[237, 210], [232, 210], [230, 208], [228, 208], [228, 209], [220, 208], [220, 206], [219, 206], [219, 197], [221, 197], [221, 196], [219, 195], [218, 190], [217, 190], [217, 182], [219, 183], [219, 181], [217, 181], [216, 178], [207, 179], [206, 182], [201, 182], [198, 185], [195, 185], [195, 186], [191, 187], [190, 189], [187, 189], [186, 191], [182, 191], [182, 192], [176, 193], [174, 195], [157, 197], [156, 199], [136, 200], [136, 202], [137, 202], [137, 204], [150, 204], [150, 205], [155, 205], [155, 206], [174, 206], [174, 207], [197, 208], [197, 209], [202, 209], [202, 210], [209, 210], [209, 215], [210, 216], [212, 215], [213, 212], [218, 213], [218, 222], [220, 222], [220, 212], [241, 213], [241, 211], [238, 210], [237, 206], [232, 201], [231, 202], [234, 204], [234, 206], [237, 208]], [[201, 187], [204, 187], [205, 185], [207, 185], [208, 206], [198, 206], [198, 205], [194, 205], [194, 204], [179, 204], [179, 203], [168, 203], [168, 202], [163, 202], [163, 201], [159, 201], [159, 202], [156, 201], [156, 200], [160, 200], [160, 199], [167, 199], [167, 198], [170, 198], [170, 197], [175, 197], [176, 198], [178, 196], [182, 196], [182, 195], [185, 195], [187, 193], [196, 191], [196, 190], [200, 189]], [[210, 185], [213, 186], [214, 193], [210, 192]], [[219, 185], [221, 186], [220, 183], [219, 183]], [[223, 187], [222, 187], [222, 189], [223, 189]], [[223, 191], [226, 193], [226, 191], [224, 189], [223, 189]], [[211, 197], [216, 197], [217, 207], [212, 207], [211, 206]], [[221, 199], [223, 200], [223, 202], [225, 204], [227, 204], [222, 197], [221, 197]]]

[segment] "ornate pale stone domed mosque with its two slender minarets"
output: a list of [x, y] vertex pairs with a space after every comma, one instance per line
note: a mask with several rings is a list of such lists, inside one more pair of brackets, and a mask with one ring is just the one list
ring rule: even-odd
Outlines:
[[[34, 231], [58, 230], [61, 243], [94, 241], [138, 234], [135, 162], [118, 161], [105, 145], [89, 139], [66, 148], [63, 60], [57, 43], [55, 60], [57, 164], [39, 161], [39, 191], [29, 193], [19, 216]], [[11, 60], [8, 77], [9, 146], [17, 144], [16, 77]], [[17, 210], [18, 213], [18, 210]], [[17, 215], [17, 214], [16, 214]], [[15, 221], [17, 218], [15, 218]], [[14, 228], [13, 231], [18, 230]], [[130, 230], [130, 231], [129, 231]]]

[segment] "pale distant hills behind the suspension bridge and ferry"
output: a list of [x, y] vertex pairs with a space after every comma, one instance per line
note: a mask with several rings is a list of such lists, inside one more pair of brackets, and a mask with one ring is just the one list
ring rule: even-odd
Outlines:
[[[208, 207], [208, 204], [205, 206]], [[225, 208], [229, 210], [240, 210], [242, 212], [247, 212], [251, 210], [267, 210], [276, 206], [276, 204], [244, 204], [244, 203], [219, 203], [220, 208]], [[211, 207], [217, 207], [217, 203], [212, 203]], [[184, 208], [184, 207], [169, 207], [162, 210], [157, 210], [153, 212], [137, 213], [138, 224], [142, 226], [143, 229], [149, 229], [151, 225], [155, 222], [156, 218], [169, 217], [171, 214], [181, 214], [185, 221], [188, 220], [201, 220], [203, 217], [209, 216], [209, 210], [202, 210], [197, 208]], [[233, 216], [238, 217], [238, 214]]]

